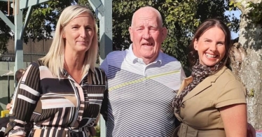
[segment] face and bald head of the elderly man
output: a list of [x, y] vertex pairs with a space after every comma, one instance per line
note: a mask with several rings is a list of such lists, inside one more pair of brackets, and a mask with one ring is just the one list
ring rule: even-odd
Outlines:
[[158, 14], [150, 9], [137, 10], [129, 28], [132, 48], [135, 56], [153, 62], [161, 49], [161, 44], [167, 35], [167, 29], [162, 27]]

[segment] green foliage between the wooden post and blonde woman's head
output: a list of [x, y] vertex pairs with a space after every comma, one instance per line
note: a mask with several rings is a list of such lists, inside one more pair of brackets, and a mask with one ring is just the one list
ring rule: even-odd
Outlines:
[[[29, 38], [32, 38], [33, 41], [41, 41], [42, 39], [52, 37], [51, 32], [56, 27], [60, 13], [65, 7], [70, 6], [74, 2], [74, 0], [48, 1], [34, 6], [24, 41], [27, 42]], [[25, 14], [26, 11], [24, 12]]]

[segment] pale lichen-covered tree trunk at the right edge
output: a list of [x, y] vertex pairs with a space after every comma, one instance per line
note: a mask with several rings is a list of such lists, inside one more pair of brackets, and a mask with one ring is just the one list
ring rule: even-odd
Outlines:
[[261, 3], [261, 0], [233, 0], [241, 3], [238, 7], [242, 11], [240, 19], [239, 43], [245, 50], [242, 55], [240, 68], [233, 72], [239, 76], [240, 80], [247, 88], [247, 115], [248, 122], [255, 129], [262, 129], [262, 34], [261, 24], [251, 22], [247, 13], [251, 8], [247, 8], [248, 2]]

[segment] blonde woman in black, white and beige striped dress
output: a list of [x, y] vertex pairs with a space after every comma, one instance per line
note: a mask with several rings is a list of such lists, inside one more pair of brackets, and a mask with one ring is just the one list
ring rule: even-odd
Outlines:
[[108, 101], [106, 76], [95, 68], [97, 48], [92, 12], [79, 5], [65, 8], [48, 54], [19, 82], [6, 134], [90, 136], [88, 127], [96, 125], [100, 111], [106, 113]]

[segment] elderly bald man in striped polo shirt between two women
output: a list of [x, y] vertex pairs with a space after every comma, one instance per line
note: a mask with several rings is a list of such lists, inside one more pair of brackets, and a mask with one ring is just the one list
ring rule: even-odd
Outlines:
[[171, 102], [185, 78], [180, 62], [160, 52], [167, 29], [158, 10], [143, 7], [132, 17], [132, 44], [111, 52], [101, 68], [109, 82], [107, 136], [172, 136]]

